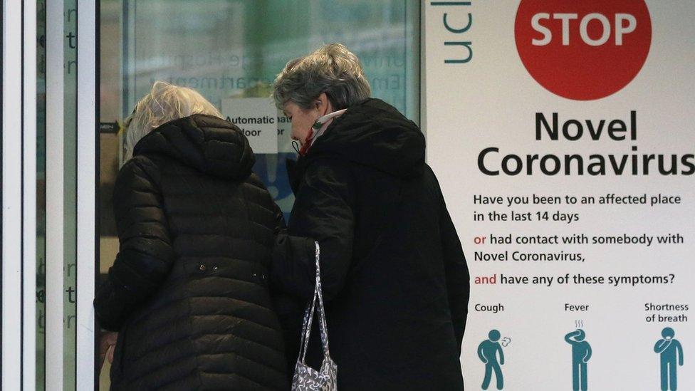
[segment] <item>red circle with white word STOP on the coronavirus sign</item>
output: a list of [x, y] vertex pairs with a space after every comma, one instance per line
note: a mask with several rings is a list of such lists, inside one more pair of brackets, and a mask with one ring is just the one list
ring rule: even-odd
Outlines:
[[521, 0], [516, 48], [528, 73], [556, 95], [605, 98], [644, 66], [652, 20], [644, 0]]

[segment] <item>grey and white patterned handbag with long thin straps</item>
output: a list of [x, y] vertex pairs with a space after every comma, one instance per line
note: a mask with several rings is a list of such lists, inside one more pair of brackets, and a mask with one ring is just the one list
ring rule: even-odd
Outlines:
[[[319, 266], [320, 248], [318, 241], [316, 244], [316, 287], [311, 304], [307, 306], [304, 313], [304, 325], [302, 328], [301, 347], [297, 365], [294, 369], [292, 378], [292, 391], [335, 391], [338, 390], [338, 365], [335, 365], [330, 358], [328, 350], [328, 330], [325, 321], [325, 311], [323, 309], [323, 294], [321, 293], [321, 273]], [[311, 322], [316, 309], [316, 299], [318, 298], [318, 327], [321, 332], [321, 345], [323, 346], [323, 363], [320, 370], [315, 370], [306, 365], [306, 350], [309, 346], [309, 335], [311, 333]]]

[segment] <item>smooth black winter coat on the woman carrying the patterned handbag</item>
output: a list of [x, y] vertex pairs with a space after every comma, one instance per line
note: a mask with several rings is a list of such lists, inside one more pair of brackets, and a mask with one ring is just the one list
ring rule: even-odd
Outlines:
[[[335, 118], [293, 168], [296, 202], [288, 236], [276, 241], [271, 286], [282, 293], [293, 365], [318, 240], [340, 391], [464, 387], [469, 271], [424, 148], [417, 125], [369, 99]], [[309, 363], [318, 367], [312, 335]]]

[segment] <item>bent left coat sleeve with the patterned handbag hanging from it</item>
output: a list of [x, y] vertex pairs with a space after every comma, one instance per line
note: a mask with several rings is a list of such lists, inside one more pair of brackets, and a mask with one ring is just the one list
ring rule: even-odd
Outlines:
[[288, 229], [276, 235], [271, 283], [308, 300], [315, 286], [315, 246], [320, 244], [321, 285], [325, 301], [345, 284], [352, 258], [352, 174], [347, 162], [320, 160], [304, 173]]

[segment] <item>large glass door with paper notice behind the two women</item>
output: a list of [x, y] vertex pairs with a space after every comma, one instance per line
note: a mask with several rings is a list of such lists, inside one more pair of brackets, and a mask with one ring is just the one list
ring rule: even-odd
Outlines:
[[[156, 80], [198, 90], [234, 119], [234, 102], [267, 99], [287, 61], [340, 42], [362, 60], [372, 95], [419, 122], [419, 13], [414, 0], [101, 0], [100, 272], [118, 250], [111, 194], [122, 165], [122, 120]], [[263, 109], [265, 110], [265, 109]], [[283, 212], [296, 158], [281, 113], [254, 171]], [[108, 363], [101, 371], [108, 385]]]

